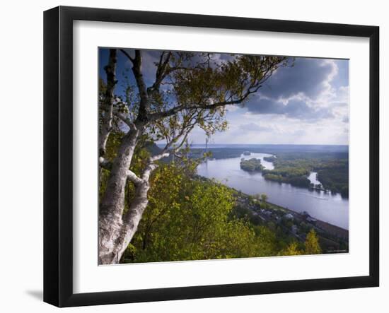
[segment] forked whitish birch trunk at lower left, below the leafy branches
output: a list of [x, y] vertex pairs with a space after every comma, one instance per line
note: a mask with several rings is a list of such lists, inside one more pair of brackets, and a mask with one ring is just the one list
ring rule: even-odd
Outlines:
[[[149, 178], [158, 165], [157, 160], [167, 157], [168, 153], [149, 158], [141, 177], [129, 170], [141, 127], [132, 129], [124, 136], [117, 157], [112, 163], [110, 178], [99, 214], [99, 264], [119, 263], [124, 250], [134, 237], [144, 210], [149, 203], [147, 193], [150, 189]], [[129, 204], [129, 211], [123, 215], [124, 193], [127, 179], [135, 185], [135, 195]]]

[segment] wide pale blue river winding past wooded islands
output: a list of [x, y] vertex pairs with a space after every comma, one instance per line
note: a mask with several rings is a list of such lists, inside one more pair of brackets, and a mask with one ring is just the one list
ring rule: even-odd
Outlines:
[[[272, 170], [273, 164], [263, 160], [267, 153], [251, 153], [239, 158], [207, 160], [197, 167], [198, 175], [214, 178], [228, 187], [245, 194], [267, 194], [268, 201], [298, 213], [306, 211], [313, 218], [323, 220], [340, 228], [349, 229], [349, 200], [330, 191], [310, 190], [291, 184], [271, 182], [262, 177], [261, 172], [245, 172], [240, 169], [240, 159], [257, 158], [265, 168]], [[308, 177], [318, 184], [315, 173]]]

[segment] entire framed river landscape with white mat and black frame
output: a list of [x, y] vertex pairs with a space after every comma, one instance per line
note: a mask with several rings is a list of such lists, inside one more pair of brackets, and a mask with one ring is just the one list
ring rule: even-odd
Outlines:
[[45, 302], [378, 286], [378, 35], [45, 11]]

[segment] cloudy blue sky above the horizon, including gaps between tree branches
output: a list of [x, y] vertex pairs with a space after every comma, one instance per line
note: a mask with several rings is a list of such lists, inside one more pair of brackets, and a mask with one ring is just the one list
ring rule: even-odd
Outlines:
[[[131, 50], [128, 50], [131, 52]], [[100, 49], [99, 74], [105, 79], [108, 49]], [[115, 93], [122, 81], [133, 83], [131, 64], [118, 53]], [[158, 52], [143, 52], [142, 71], [147, 85], [153, 83]], [[227, 59], [226, 54], [215, 54]], [[217, 132], [210, 143], [330, 144], [347, 145], [349, 138], [349, 61], [296, 57], [294, 66], [281, 67], [251, 95], [244, 107], [227, 107], [228, 129]], [[204, 143], [202, 129], [194, 129], [190, 143]]]

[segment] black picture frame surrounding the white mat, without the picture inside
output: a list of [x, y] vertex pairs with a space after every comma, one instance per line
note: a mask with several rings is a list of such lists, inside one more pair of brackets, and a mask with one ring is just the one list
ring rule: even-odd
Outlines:
[[[73, 292], [73, 21], [177, 25], [369, 38], [369, 275], [101, 293]], [[44, 301], [58, 307], [291, 293], [379, 285], [379, 28], [59, 6], [44, 13]]]

